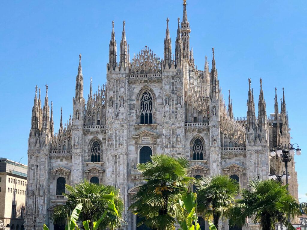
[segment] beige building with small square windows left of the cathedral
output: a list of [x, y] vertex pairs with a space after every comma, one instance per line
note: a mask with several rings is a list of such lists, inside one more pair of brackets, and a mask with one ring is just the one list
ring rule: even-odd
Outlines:
[[6, 229], [24, 229], [27, 166], [0, 158], [0, 220]]

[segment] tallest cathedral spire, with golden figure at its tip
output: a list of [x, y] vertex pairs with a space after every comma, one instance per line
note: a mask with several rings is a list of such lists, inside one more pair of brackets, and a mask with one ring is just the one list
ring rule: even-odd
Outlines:
[[190, 58], [190, 23], [188, 22], [188, 16], [187, 16], [187, 9], [186, 9], [187, 3], [186, 0], [183, 0], [183, 17], [181, 22], [181, 37], [183, 41], [183, 58]]

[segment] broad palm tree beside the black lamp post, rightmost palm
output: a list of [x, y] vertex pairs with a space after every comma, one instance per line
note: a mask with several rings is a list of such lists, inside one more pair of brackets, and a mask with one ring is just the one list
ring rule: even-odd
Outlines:
[[274, 230], [276, 222], [294, 230], [287, 216], [294, 218], [301, 212], [296, 199], [288, 193], [287, 186], [273, 180], [251, 180], [248, 189], [241, 189], [242, 199], [236, 200], [229, 225], [242, 226], [250, 218], [254, 223], [260, 222], [262, 230]]

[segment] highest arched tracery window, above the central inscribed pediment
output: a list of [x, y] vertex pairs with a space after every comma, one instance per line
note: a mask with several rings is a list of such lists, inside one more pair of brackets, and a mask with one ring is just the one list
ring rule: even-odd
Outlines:
[[145, 91], [141, 96], [141, 111], [140, 118], [141, 124], [153, 123], [153, 97], [150, 92]]

